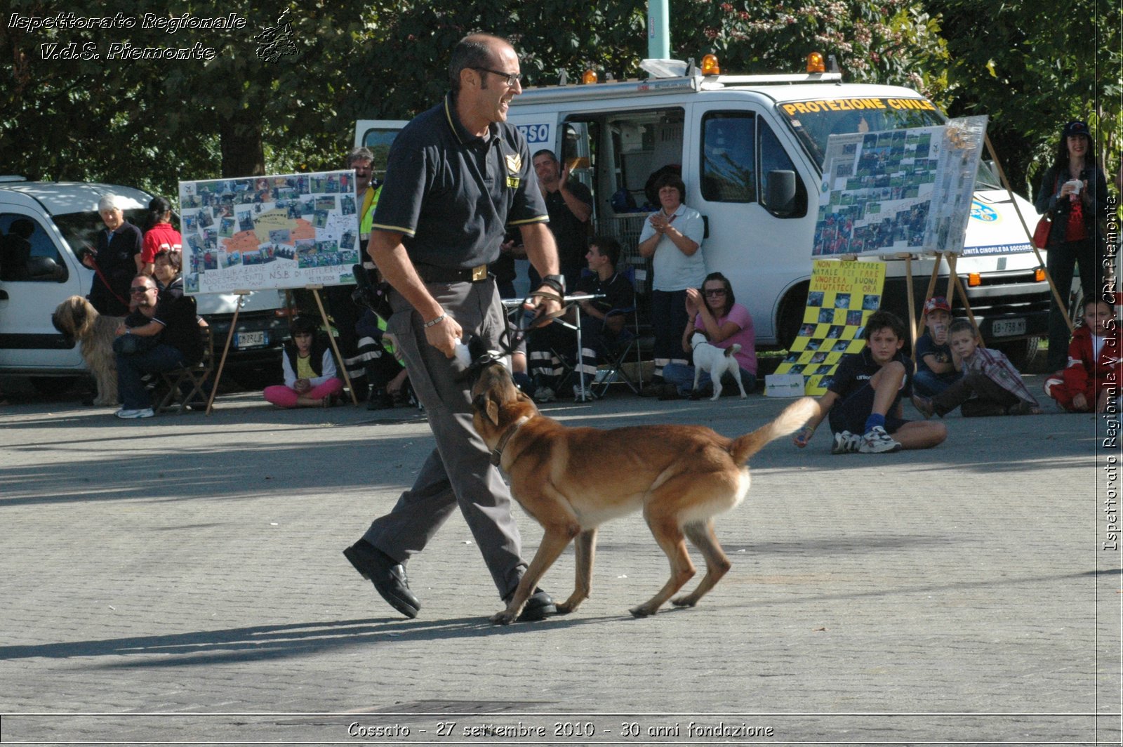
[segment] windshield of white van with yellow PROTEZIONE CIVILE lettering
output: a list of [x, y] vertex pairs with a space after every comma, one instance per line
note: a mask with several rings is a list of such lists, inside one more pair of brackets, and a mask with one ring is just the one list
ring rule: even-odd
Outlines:
[[887, 97], [783, 101], [776, 104], [811, 160], [823, 170], [827, 138], [910, 127], [938, 127], [944, 116], [928, 99]]

